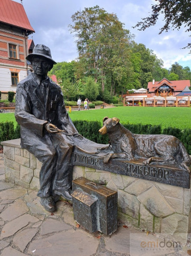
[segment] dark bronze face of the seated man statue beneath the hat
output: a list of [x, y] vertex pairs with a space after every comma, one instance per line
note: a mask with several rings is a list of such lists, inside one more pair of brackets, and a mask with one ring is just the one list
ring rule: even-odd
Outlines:
[[32, 60], [33, 70], [37, 76], [45, 77], [49, 71], [50, 62], [46, 58], [34, 57]]

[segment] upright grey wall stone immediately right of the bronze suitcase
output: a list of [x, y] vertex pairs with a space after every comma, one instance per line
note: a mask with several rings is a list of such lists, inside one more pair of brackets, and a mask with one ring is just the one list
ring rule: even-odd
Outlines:
[[139, 218], [139, 201], [136, 196], [130, 195], [127, 192], [118, 190], [118, 207], [122, 213], [133, 218]]

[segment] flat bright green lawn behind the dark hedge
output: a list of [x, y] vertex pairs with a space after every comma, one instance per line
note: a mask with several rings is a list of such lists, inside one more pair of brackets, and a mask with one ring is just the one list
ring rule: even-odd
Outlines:
[[[191, 108], [176, 107], [117, 107], [110, 109], [97, 109], [86, 111], [72, 111], [71, 119], [74, 120], [98, 120], [102, 122], [104, 117], [117, 117], [120, 122], [142, 123], [161, 125], [164, 127], [177, 127], [180, 129], [191, 128]], [[0, 122], [16, 121], [14, 113], [0, 114]]]

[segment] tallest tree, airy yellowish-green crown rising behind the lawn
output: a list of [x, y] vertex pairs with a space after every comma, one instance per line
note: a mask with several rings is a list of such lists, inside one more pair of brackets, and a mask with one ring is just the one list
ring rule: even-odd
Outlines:
[[128, 63], [129, 31], [123, 29], [116, 14], [107, 13], [98, 5], [76, 12], [72, 21], [74, 24], [69, 28], [78, 38], [79, 61], [83, 67], [86, 65], [87, 76], [101, 81], [103, 92], [106, 73], [112, 76], [114, 68]]

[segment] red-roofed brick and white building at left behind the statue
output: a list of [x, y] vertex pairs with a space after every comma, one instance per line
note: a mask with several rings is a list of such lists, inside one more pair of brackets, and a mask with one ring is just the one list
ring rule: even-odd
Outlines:
[[[0, 8], [0, 91], [2, 99], [8, 91], [16, 92], [16, 85], [30, 70], [26, 62], [28, 35], [34, 33], [22, 4], [1, 0]], [[33, 48], [32, 48], [33, 47]]]

